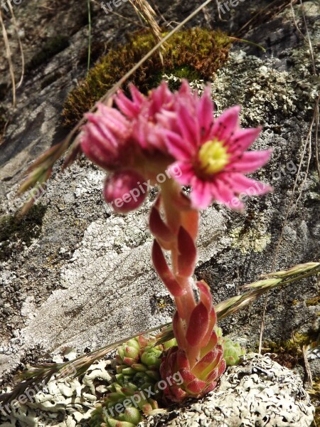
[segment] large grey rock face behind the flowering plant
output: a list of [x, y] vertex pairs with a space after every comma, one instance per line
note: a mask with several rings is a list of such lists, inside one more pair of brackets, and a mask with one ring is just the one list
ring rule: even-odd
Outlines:
[[[33, 67], [28, 68], [18, 90], [14, 112], [9, 107], [9, 77], [1, 73], [1, 88], [6, 89], [1, 96], [10, 119], [0, 145], [1, 215], [10, 216], [20, 206], [21, 200], [14, 196], [26, 166], [66, 133], [60, 125], [63, 100], [85, 75], [86, 5], [82, 9], [78, 4], [28, 1], [15, 9], [26, 62], [32, 64], [33, 59]], [[183, 6], [180, 1], [157, 4], [167, 21], [181, 21], [198, 6], [197, 1]], [[227, 22], [220, 22], [213, 2], [192, 22], [228, 28], [267, 46], [262, 53], [259, 48], [235, 44], [230, 61], [212, 85], [220, 110], [240, 103], [242, 125], [263, 125], [255, 148], [272, 147], [273, 155], [257, 178], [274, 186], [273, 194], [248, 201], [245, 214], [217, 205], [202, 213], [196, 276], [209, 283], [216, 302], [237, 294], [240, 285], [262, 273], [320, 258], [319, 177], [314, 139], [309, 144], [307, 138], [319, 80], [314, 76], [309, 46], [299, 33], [306, 35], [302, 6], [294, 6], [299, 31], [289, 8], [260, 16], [252, 28], [246, 28], [247, 33], [240, 29], [252, 11], [267, 4], [241, 3], [223, 16]], [[319, 6], [316, 1], [303, 5], [318, 73]], [[48, 7], [50, 14], [46, 13]], [[94, 7], [92, 46], [99, 53], [107, 43], [124, 41], [133, 27], [131, 21], [105, 16]], [[121, 14], [133, 19], [128, 4], [122, 6]], [[41, 19], [37, 21], [37, 17]], [[42, 29], [38, 28], [42, 38], [34, 22], [42, 23]], [[12, 34], [18, 70], [14, 31], [7, 17], [5, 23]], [[68, 47], [34, 65], [34, 56], [48, 51], [46, 43], [57, 33], [68, 38]], [[1, 69], [5, 64], [1, 58]], [[31, 240], [26, 242], [13, 228], [0, 243], [0, 384], [6, 384], [21, 363], [33, 362], [48, 352], [60, 353], [69, 346], [78, 352], [95, 349], [170, 319], [172, 302], [149, 260], [151, 238], [146, 220], [156, 190], [139, 211], [117, 216], [102, 202], [103, 179], [100, 169], [83, 159], [65, 174], [60, 174], [58, 164], [38, 202], [46, 209], [39, 205], [38, 218], [31, 222]], [[284, 221], [296, 179], [297, 191]], [[279, 342], [297, 333], [312, 339], [319, 336], [318, 295], [316, 279], [272, 292], [264, 338]], [[223, 330], [255, 348], [263, 307], [260, 300], [250, 310], [228, 318], [222, 322]], [[310, 360], [314, 376], [320, 374], [317, 360]]]

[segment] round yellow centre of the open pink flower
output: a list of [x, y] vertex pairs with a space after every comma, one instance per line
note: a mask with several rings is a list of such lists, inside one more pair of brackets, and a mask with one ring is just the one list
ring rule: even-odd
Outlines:
[[223, 146], [223, 142], [213, 139], [203, 144], [198, 156], [202, 171], [206, 174], [215, 174], [228, 164], [230, 154], [227, 153], [227, 147]]

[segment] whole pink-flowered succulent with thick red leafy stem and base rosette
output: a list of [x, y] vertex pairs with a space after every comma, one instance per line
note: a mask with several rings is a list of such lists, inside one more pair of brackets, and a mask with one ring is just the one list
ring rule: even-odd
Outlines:
[[[97, 112], [86, 115], [81, 147], [89, 159], [109, 172], [103, 192], [115, 211], [137, 209], [150, 186], [160, 187], [149, 216], [154, 236], [151, 257], [176, 302], [176, 345], [161, 351], [161, 362], [156, 364], [164, 381], [177, 372], [181, 374], [182, 383], [170, 381], [163, 393], [166, 401], [182, 401], [213, 390], [225, 371], [225, 359], [228, 364], [237, 363], [242, 354], [240, 346], [224, 340], [216, 327], [209, 286], [193, 280], [198, 211], [213, 201], [242, 209], [240, 193], [248, 189], [250, 195], [270, 191], [267, 184], [245, 176], [268, 161], [270, 150], [247, 151], [261, 129], [240, 127], [240, 107], [213, 117], [210, 87], [202, 97], [193, 93], [186, 80], [175, 93], [166, 83], [147, 96], [134, 85], [130, 93], [131, 98], [117, 93], [117, 107], [99, 104]], [[191, 186], [190, 197], [181, 185]], [[171, 253], [171, 265], [164, 251]], [[155, 371], [137, 362], [142, 360], [140, 346], [131, 340], [119, 350], [118, 362], [123, 363], [119, 368], [120, 386], [129, 381], [127, 374], [141, 374], [146, 384], [154, 381]], [[156, 348], [153, 351], [144, 359], [154, 361]]]

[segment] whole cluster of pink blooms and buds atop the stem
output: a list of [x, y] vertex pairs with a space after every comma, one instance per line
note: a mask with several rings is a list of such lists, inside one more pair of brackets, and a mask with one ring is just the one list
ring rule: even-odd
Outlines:
[[[119, 212], [139, 207], [146, 191], [144, 182], [157, 184], [159, 173], [171, 172], [178, 184], [191, 186], [193, 208], [205, 209], [213, 201], [242, 209], [240, 193], [264, 194], [270, 186], [258, 185], [245, 174], [255, 172], [270, 157], [270, 150], [247, 151], [260, 128], [241, 129], [240, 107], [231, 107], [213, 117], [210, 87], [202, 97], [192, 93], [183, 81], [171, 93], [166, 83], [148, 96], [131, 85], [131, 99], [121, 91], [115, 107], [97, 105], [88, 113], [82, 128], [81, 147], [87, 157], [111, 172], [105, 181], [104, 196]], [[173, 173], [180, 170], [181, 174]]]

